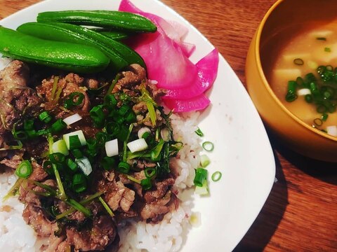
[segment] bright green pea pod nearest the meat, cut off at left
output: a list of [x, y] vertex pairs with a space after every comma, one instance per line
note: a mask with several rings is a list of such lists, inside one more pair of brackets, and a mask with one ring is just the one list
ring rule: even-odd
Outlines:
[[13, 59], [78, 73], [103, 71], [110, 59], [92, 46], [48, 41], [0, 27], [0, 52]]

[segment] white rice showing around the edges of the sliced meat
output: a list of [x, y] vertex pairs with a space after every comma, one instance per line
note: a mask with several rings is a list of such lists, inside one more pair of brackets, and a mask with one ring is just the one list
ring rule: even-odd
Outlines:
[[[172, 115], [174, 137], [185, 145], [180, 151], [180, 158], [175, 160], [179, 176], [173, 186], [178, 192], [180, 206], [173, 213], [166, 214], [158, 224], [128, 221], [119, 227], [121, 238], [119, 251], [179, 251], [185, 241], [191, 225], [194, 169], [200, 162], [201, 145], [197, 130], [199, 113], [185, 113], [183, 116]], [[0, 174], [0, 251], [39, 251], [41, 241], [34, 230], [22, 218], [24, 205], [17, 197], [3, 202], [3, 197], [15, 183], [15, 175], [10, 172]], [[10, 211], [8, 211], [10, 210]]]

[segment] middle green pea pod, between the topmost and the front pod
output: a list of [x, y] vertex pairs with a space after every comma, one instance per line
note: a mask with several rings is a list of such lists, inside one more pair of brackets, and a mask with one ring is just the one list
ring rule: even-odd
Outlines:
[[110, 64], [115, 71], [134, 63], [145, 67], [143, 58], [128, 46], [79, 25], [60, 22], [28, 22], [20, 25], [18, 31], [39, 38], [95, 46], [110, 57]]

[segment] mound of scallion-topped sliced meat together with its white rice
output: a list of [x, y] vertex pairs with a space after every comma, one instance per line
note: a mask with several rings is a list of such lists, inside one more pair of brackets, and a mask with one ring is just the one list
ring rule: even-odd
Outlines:
[[[190, 216], [180, 192], [199, 165], [198, 113], [172, 114], [164, 94], [138, 64], [80, 76], [9, 63], [0, 72], [0, 248], [178, 250]], [[10, 216], [29, 241], [11, 244]]]

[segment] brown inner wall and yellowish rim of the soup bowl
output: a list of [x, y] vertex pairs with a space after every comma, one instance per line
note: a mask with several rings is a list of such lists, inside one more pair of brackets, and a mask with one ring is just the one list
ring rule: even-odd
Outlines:
[[289, 43], [291, 37], [305, 31], [312, 24], [317, 26], [333, 20], [336, 21], [336, 8], [336, 0], [279, 0], [265, 15], [260, 26], [260, 37], [258, 39], [258, 57], [260, 57], [261, 71], [263, 71], [263, 76], [267, 80], [265, 85], [272, 97], [297, 123], [333, 141], [337, 141], [337, 138], [316, 130], [291, 113], [277, 98], [268, 82], [280, 51]]

